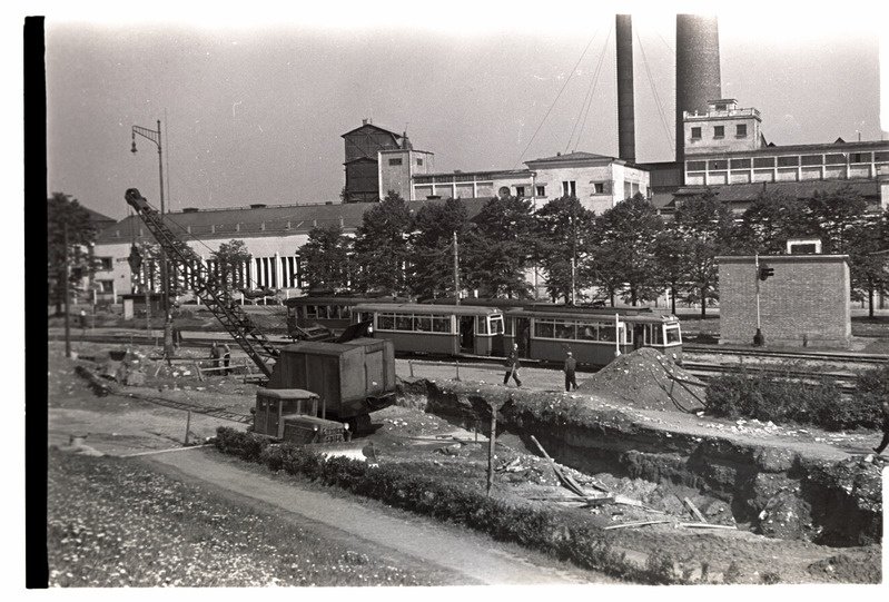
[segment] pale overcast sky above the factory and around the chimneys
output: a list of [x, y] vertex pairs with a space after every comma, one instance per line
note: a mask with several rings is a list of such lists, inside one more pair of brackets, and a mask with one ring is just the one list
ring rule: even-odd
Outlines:
[[[435, 154], [436, 171], [618, 155], [614, 7], [329, 4], [335, 12], [174, 13], [164, 2], [141, 14], [46, 12], [48, 193], [113, 218], [127, 215], [129, 187], [158, 205], [157, 147], [137, 136], [130, 152], [132, 126], [158, 119], [171, 210], [338, 201], [342, 135], [365, 118], [406, 131]], [[639, 161], [673, 159], [675, 12], [695, 8], [659, 6], [622, 10], [633, 14]], [[889, 139], [887, 9], [769, 6], [719, 13], [723, 97], [759, 109], [777, 145]]]

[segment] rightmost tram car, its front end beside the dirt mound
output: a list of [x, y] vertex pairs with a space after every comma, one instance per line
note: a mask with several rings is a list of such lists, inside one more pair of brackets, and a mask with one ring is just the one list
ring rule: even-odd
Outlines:
[[592, 308], [531, 304], [504, 309], [504, 344], [521, 357], [562, 362], [572, 352], [580, 364], [602, 367], [641, 347], [682, 363], [679, 318], [644, 308]]

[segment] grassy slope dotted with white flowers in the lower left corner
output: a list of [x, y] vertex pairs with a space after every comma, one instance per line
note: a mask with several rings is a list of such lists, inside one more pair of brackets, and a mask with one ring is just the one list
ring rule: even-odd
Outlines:
[[140, 466], [49, 453], [52, 588], [444, 585]]

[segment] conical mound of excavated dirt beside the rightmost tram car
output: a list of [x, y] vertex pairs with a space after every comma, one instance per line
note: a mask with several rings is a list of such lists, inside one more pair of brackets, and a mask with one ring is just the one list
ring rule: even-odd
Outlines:
[[621, 355], [580, 383], [577, 389], [613, 397], [639, 409], [698, 412], [704, 407], [704, 384], [649, 347]]

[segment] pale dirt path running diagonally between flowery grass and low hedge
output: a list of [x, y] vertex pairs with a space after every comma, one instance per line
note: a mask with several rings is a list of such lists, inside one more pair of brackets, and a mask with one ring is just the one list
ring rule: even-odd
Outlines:
[[139, 460], [189, 482], [199, 482], [219, 495], [265, 505], [295, 523], [319, 530], [325, 537], [353, 544], [362, 541], [377, 556], [392, 557], [393, 562], [422, 562], [454, 571], [465, 576], [463, 584], [613, 583], [567, 565], [563, 570], [539, 566], [533, 552], [504, 546], [476, 533], [300, 487], [239, 465], [211, 447], [150, 453]]

